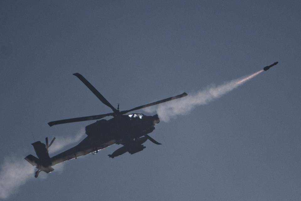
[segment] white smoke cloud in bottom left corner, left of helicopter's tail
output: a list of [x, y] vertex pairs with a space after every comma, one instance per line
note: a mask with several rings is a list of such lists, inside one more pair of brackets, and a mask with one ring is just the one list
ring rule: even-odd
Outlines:
[[34, 167], [24, 158], [6, 157], [0, 169], [0, 198], [6, 199], [34, 176]]

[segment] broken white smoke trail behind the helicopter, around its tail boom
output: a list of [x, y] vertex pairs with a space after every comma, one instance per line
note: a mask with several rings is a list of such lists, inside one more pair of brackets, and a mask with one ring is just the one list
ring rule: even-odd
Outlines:
[[[69, 144], [78, 142], [84, 134], [85, 130], [82, 128], [74, 137], [57, 137], [51, 145], [49, 152], [58, 151]], [[32, 150], [34, 152], [34, 149]], [[60, 165], [56, 165], [55, 167], [59, 172], [63, 169], [63, 166]], [[0, 200], [7, 199], [12, 194], [17, 193], [21, 185], [24, 185], [29, 179], [34, 178], [36, 170], [23, 157], [6, 157], [0, 165]]]

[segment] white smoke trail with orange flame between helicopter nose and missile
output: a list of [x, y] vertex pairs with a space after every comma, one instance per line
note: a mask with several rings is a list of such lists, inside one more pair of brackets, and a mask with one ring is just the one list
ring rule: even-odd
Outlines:
[[[230, 82], [226, 82], [219, 86], [210, 86], [204, 90], [199, 91], [194, 95], [188, 95], [184, 98], [173, 100], [166, 104], [160, 104], [156, 107], [156, 112], [160, 120], [168, 122], [171, 118], [175, 118], [177, 115], [185, 115], [191, 111], [194, 107], [199, 105], [205, 105], [210, 101], [213, 101], [222, 95], [232, 91], [238, 86], [245, 83], [247, 80], [252, 79], [259, 73], [263, 72], [260, 70], [253, 73], [250, 76], [246, 76], [240, 79], [235, 79]], [[151, 110], [151, 109], [150, 109]], [[147, 111], [150, 111], [149, 109]]]

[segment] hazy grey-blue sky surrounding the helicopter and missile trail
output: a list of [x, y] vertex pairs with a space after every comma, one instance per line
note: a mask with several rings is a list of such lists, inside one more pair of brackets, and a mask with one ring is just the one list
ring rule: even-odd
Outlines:
[[[1, 1], [0, 199], [300, 200], [300, 4]], [[72, 73], [127, 110], [193, 96], [276, 61], [161, 121], [150, 136], [162, 145], [147, 141], [111, 159], [113, 145], [37, 179], [23, 159], [34, 154], [32, 133], [56, 137], [53, 146], [73, 143], [63, 151], [93, 121], [47, 122], [111, 112]]]

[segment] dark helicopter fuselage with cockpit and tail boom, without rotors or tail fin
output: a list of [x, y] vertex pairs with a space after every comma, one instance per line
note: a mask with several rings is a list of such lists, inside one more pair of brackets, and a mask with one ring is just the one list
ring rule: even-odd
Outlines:
[[109, 120], [98, 120], [86, 126], [87, 137], [78, 145], [50, 158], [51, 166], [92, 152], [98, 152], [112, 144], [126, 144], [151, 133], [159, 123], [158, 115], [120, 115]]

